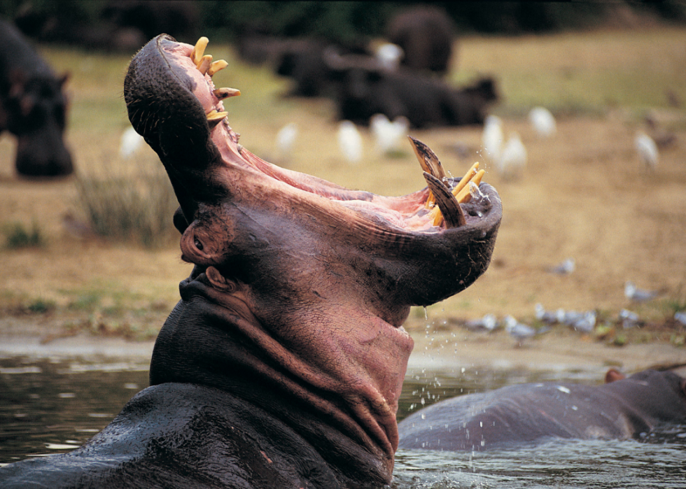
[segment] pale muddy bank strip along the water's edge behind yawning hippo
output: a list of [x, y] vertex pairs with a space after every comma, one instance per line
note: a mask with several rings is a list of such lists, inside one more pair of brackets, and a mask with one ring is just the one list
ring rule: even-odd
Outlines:
[[[414, 339], [409, 369], [451, 371], [479, 367], [491, 370], [584, 371], [602, 378], [609, 367], [626, 373], [648, 367], [686, 364], [686, 350], [663, 341], [611, 346], [563, 327], [554, 328], [519, 346], [504, 331], [470, 332], [461, 327], [435, 331], [407, 324]], [[0, 320], [0, 355], [28, 357], [80, 357], [86, 360], [150, 360], [154, 341], [77, 334], [46, 336], [45, 325], [18, 318]]]

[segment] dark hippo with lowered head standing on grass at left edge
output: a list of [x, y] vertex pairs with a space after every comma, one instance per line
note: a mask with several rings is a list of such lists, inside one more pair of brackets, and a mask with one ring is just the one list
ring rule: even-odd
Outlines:
[[22, 176], [73, 172], [64, 144], [66, 75], [57, 77], [27, 39], [0, 19], [0, 133], [17, 136], [15, 167]]

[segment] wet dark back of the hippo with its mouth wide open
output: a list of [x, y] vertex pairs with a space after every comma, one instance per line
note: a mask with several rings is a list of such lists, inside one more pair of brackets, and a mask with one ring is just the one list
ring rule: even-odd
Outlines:
[[339, 474], [280, 420], [228, 392], [183, 383], [139, 392], [87, 444], [49, 459], [4, 467], [0, 487], [339, 487]]

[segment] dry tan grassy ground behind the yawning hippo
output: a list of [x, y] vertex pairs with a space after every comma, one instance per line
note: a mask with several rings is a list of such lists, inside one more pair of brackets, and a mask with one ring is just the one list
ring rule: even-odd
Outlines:
[[[431, 306], [430, 318], [484, 313], [530, 317], [535, 302], [548, 309], [599, 309], [612, 316], [632, 306], [623, 296], [626, 280], [664, 291], [664, 299], [640, 306], [645, 317], [658, 320], [673, 304], [686, 304], [686, 116], [683, 108], [668, 107], [666, 97], [668, 91], [686, 97], [684, 45], [686, 29], [672, 28], [461, 41], [454, 81], [478, 73], [496, 76], [504, 101], [494, 111], [504, 116], [506, 132], [521, 134], [529, 163], [515, 182], [486, 174], [504, 208], [493, 264], [470, 289]], [[67, 139], [78, 169], [97, 174], [106, 164], [116, 172], [133, 171], [116, 156], [127, 127], [121, 91], [129, 57], [53, 48], [44, 52], [57, 71], [71, 71]], [[380, 194], [405, 194], [426, 185], [409, 146], [404, 157], [393, 159], [369, 149], [363, 164], [349, 166], [337, 151], [330, 102], [283, 99], [286, 80], [266, 68], [242, 65], [227, 46], [211, 43], [208, 52], [230, 62], [229, 69], [215, 76], [216, 84], [241, 89], [242, 96], [226, 106], [232, 127], [243, 134], [241, 143], [253, 153], [270, 160], [276, 132], [297, 122], [300, 138], [288, 162], [292, 169]], [[538, 104], [561, 116], [554, 139], [537, 139], [521, 117]], [[649, 108], [659, 109], [664, 129], [677, 136], [654, 174], [640, 167], [633, 150], [633, 134]], [[413, 135], [428, 143], [453, 173], [482, 161], [478, 128]], [[367, 132], [363, 141], [365, 148], [373, 147]], [[469, 148], [468, 157], [452, 152], [455, 143]], [[26, 306], [41, 299], [55, 304], [58, 315], [83, 320], [99, 314], [112, 322], [121, 322], [127, 309], [169, 311], [178, 297], [176, 284], [190, 271], [179, 260], [176, 245], [151, 252], [132, 243], [71, 236], [62, 222], [64, 213], [78, 213], [76, 180], [17, 180], [13, 157], [13, 141], [4, 136], [0, 224], [18, 221], [29, 227], [35, 219], [47, 246], [0, 250], [0, 304]], [[156, 157], [146, 148], [136, 161], [155, 164]], [[545, 272], [566, 257], [575, 257], [574, 274]], [[85, 312], [70, 309], [81, 291], [99, 283], [109, 284], [99, 289], [99, 302]], [[116, 308], [107, 309], [113, 303]], [[416, 311], [412, 320], [423, 323], [423, 311]], [[161, 325], [157, 316], [158, 323], [145, 321], [151, 323], [141, 327]]]

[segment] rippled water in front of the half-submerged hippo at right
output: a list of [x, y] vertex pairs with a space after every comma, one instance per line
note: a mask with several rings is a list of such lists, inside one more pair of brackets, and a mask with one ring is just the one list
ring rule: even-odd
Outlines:
[[400, 450], [391, 487], [686, 488], [686, 442], [678, 437], [684, 430], [673, 430], [659, 443], [554, 440], [477, 453]]

